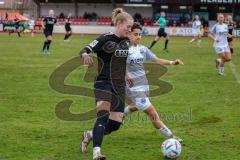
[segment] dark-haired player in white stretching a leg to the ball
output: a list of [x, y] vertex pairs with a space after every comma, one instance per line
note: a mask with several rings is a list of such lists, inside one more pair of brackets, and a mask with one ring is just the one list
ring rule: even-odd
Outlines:
[[[134, 23], [132, 32], [129, 36], [130, 49], [127, 59], [127, 97], [132, 101], [132, 104], [127, 106], [124, 110], [125, 116], [130, 113], [142, 110], [151, 119], [153, 126], [163, 133], [167, 138], [172, 138], [173, 134], [168, 127], [160, 120], [160, 117], [149, 100], [149, 85], [146, 77], [144, 62], [153, 61], [160, 65], [183, 65], [183, 62], [179, 59], [175, 61], [169, 61], [158, 58], [147, 47], [140, 44], [141, 40], [141, 26], [138, 23]], [[179, 139], [180, 142], [182, 141]]]

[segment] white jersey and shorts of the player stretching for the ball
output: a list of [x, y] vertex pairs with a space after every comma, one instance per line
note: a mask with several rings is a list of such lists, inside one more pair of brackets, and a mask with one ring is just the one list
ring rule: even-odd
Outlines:
[[156, 58], [147, 47], [137, 45], [129, 48], [127, 58], [127, 75], [133, 79], [133, 86], [126, 87], [126, 95], [132, 103], [139, 109], [145, 110], [151, 106], [149, 101], [149, 85], [144, 69], [144, 61], [152, 61]]

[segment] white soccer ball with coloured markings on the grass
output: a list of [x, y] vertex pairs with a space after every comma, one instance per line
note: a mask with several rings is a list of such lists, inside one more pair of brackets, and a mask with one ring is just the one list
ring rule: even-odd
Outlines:
[[162, 143], [161, 150], [165, 157], [174, 159], [180, 156], [182, 146], [178, 140], [170, 138]]

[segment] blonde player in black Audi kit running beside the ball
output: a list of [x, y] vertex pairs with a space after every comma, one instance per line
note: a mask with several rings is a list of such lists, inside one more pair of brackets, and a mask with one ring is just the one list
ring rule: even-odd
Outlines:
[[89, 53], [96, 53], [98, 57], [98, 76], [94, 83], [96, 98], [97, 120], [93, 131], [85, 131], [81, 143], [81, 151], [93, 140], [93, 160], [105, 160], [101, 154], [101, 144], [104, 135], [110, 134], [120, 128], [125, 106], [125, 73], [126, 60], [129, 50], [128, 34], [133, 25], [132, 17], [121, 8], [112, 13], [115, 26], [113, 33], [99, 36], [87, 45], [81, 52], [84, 64], [93, 65]]

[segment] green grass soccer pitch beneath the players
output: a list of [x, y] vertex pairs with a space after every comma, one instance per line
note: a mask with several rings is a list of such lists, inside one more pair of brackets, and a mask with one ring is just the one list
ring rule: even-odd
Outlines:
[[[43, 35], [0, 34], [0, 160], [90, 160], [79, 152], [81, 134], [91, 129], [94, 120], [63, 121], [55, 106], [64, 99], [74, 100], [71, 112], [95, 107], [94, 99], [61, 94], [49, 87], [49, 76], [61, 64], [78, 56], [96, 36], [73, 35], [63, 43], [54, 35], [51, 55], [41, 54]], [[153, 37], [144, 37], [150, 45]], [[226, 64], [226, 76], [217, 74], [212, 41], [204, 38], [202, 48], [189, 45], [190, 38], [171, 37], [169, 54], [163, 54], [163, 40], [153, 51], [161, 58], [180, 58], [184, 66], [170, 66], [161, 77], [174, 89], [151, 98], [164, 122], [183, 138], [180, 160], [238, 160], [240, 147], [239, 40], [235, 39], [235, 75]], [[80, 67], [65, 83], [92, 87], [83, 82], [86, 69]], [[105, 137], [102, 152], [109, 160], [162, 160], [160, 135], [143, 113], [125, 120], [118, 132]]]

